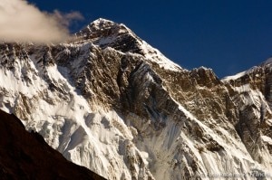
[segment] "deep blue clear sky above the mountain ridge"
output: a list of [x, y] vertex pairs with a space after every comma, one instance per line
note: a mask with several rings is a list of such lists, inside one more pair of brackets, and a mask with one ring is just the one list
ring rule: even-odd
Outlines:
[[205, 66], [219, 78], [272, 55], [272, 1], [29, 0], [43, 11], [79, 11], [75, 32], [102, 17], [126, 24], [181, 67]]

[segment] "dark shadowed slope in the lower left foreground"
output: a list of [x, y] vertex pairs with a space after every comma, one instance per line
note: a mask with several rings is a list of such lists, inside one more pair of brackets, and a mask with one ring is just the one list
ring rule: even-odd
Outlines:
[[0, 110], [0, 178], [104, 179], [83, 166], [67, 161], [44, 138], [27, 132], [15, 115]]

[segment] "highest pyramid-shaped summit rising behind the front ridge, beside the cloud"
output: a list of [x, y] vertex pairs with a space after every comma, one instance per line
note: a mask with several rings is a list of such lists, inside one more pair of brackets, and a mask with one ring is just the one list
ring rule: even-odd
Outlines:
[[124, 24], [99, 18], [75, 34], [80, 41], [89, 41], [100, 48], [113, 48], [119, 52], [131, 52], [144, 56], [165, 69], [180, 71], [179, 65], [167, 59], [159, 50], [141, 40]]

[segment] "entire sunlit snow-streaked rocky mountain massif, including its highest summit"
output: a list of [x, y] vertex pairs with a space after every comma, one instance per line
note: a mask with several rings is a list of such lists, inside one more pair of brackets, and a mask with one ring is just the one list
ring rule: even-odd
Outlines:
[[269, 179], [270, 62], [220, 81], [98, 19], [69, 43], [1, 43], [0, 109], [111, 180]]

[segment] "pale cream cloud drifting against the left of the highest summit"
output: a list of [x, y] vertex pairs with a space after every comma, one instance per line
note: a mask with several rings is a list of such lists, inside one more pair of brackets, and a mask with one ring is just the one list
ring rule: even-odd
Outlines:
[[50, 14], [23, 0], [0, 0], [0, 41], [61, 42], [70, 36], [70, 22], [82, 19], [78, 12]]

